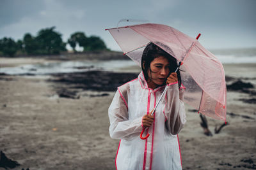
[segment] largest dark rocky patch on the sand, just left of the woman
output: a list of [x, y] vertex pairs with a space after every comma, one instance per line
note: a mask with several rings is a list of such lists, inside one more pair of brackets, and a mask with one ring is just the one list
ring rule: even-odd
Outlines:
[[[52, 74], [54, 88], [60, 97], [79, 99], [81, 90], [111, 92], [117, 87], [138, 77], [138, 73], [114, 73], [107, 71], [84, 71], [81, 73]], [[77, 90], [79, 89], [79, 90]], [[91, 94], [90, 97], [108, 96], [109, 94]]]

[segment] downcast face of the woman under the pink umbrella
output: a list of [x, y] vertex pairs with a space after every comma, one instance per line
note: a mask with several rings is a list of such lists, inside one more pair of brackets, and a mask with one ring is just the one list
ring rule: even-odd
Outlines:
[[148, 69], [148, 87], [156, 89], [165, 83], [166, 78], [170, 73], [170, 64], [168, 59], [163, 56], [159, 56], [152, 60], [150, 63], [150, 69], [151, 72]]

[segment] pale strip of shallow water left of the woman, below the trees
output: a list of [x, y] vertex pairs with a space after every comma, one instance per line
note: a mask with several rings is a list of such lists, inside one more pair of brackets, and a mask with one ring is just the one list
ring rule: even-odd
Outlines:
[[46, 75], [54, 73], [74, 73], [83, 71], [116, 71], [123, 67], [134, 66], [132, 60], [84, 60], [44, 62], [42, 64], [24, 64], [17, 67], [1, 67], [0, 73], [18, 75]]

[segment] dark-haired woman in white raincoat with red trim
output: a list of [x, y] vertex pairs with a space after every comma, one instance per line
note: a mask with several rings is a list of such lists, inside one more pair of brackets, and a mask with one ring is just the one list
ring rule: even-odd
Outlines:
[[[138, 78], [118, 87], [109, 106], [109, 134], [120, 139], [116, 169], [182, 169], [177, 134], [184, 127], [184, 87], [177, 61], [153, 43], [141, 57]], [[153, 116], [150, 111], [163, 93]], [[140, 132], [150, 136], [142, 140]]]

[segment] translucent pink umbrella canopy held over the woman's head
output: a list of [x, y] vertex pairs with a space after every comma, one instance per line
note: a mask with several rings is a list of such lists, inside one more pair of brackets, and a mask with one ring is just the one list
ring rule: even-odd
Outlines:
[[186, 87], [185, 102], [198, 113], [226, 120], [225, 73], [220, 60], [195, 38], [161, 24], [140, 24], [108, 30], [124, 54], [139, 66], [145, 46], [152, 42], [182, 62], [180, 76]]

